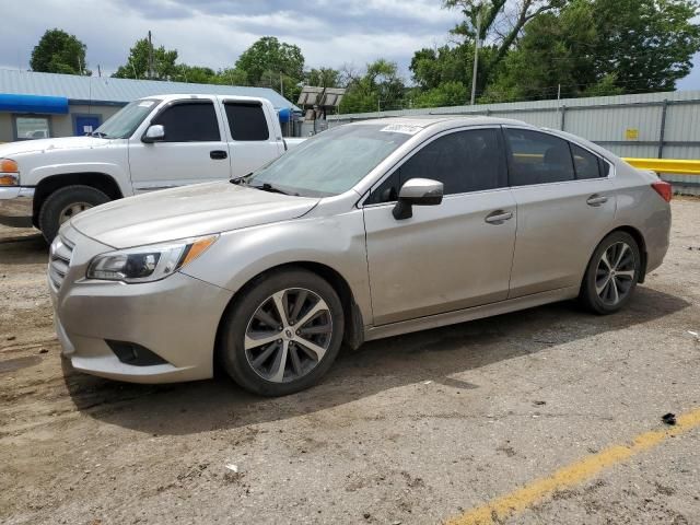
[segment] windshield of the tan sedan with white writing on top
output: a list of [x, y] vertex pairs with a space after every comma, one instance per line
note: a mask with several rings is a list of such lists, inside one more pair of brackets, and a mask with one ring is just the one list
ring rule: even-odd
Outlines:
[[247, 183], [306, 197], [340, 195], [419, 130], [385, 124], [340, 126], [302, 142]]

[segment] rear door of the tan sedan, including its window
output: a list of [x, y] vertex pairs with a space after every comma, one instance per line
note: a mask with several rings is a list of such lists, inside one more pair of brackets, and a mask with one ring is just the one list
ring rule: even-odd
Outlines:
[[550, 133], [504, 135], [518, 218], [509, 298], [578, 287], [615, 218], [609, 164]]

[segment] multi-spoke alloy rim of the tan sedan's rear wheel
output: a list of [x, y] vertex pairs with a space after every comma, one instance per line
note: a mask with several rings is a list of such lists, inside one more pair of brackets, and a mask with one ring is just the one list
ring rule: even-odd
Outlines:
[[615, 306], [625, 300], [634, 283], [637, 261], [634, 252], [625, 242], [617, 242], [607, 247], [595, 275], [595, 291], [600, 301]]

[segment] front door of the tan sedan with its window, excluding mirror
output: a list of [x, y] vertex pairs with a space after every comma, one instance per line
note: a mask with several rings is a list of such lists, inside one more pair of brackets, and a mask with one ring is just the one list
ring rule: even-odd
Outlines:
[[[442, 203], [394, 219], [400, 186], [417, 177], [444, 184]], [[505, 300], [515, 211], [498, 129], [443, 135], [408, 159], [364, 206], [374, 325]]]

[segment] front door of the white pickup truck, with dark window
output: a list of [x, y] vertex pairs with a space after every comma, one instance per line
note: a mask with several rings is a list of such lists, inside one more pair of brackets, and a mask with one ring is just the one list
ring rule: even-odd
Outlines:
[[231, 162], [222, 124], [211, 100], [182, 100], [162, 107], [150, 122], [164, 127], [162, 140], [129, 139], [135, 192], [228, 179]]

